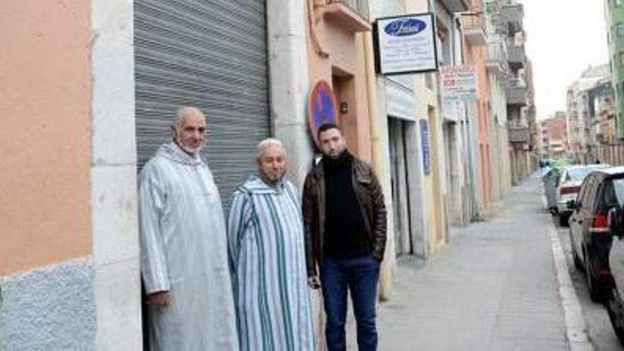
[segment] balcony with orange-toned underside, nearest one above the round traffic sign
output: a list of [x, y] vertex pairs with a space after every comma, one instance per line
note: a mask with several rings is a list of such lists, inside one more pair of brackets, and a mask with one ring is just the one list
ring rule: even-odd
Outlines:
[[323, 17], [353, 33], [371, 30], [368, 0], [327, 0]]

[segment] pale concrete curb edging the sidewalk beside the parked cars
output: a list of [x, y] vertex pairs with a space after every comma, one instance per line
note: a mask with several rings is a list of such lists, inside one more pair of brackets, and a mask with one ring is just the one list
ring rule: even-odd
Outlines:
[[594, 345], [591, 345], [587, 335], [587, 325], [581, 310], [581, 303], [579, 303], [579, 298], [576, 296], [576, 291], [574, 291], [574, 286], [572, 285], [572, 277], [570, 277], [568, 271], [561, 240], [559, 240], [557, 229], [555, 229], [555, 224], [552, 223], [550, 216], [548, 216], [547, 220], [549, 221], [548, 236], [552, 246], [552, 259], [557, 270], [559, 296], [566, 323], [568, 348], [572, 351], [594, 350]]

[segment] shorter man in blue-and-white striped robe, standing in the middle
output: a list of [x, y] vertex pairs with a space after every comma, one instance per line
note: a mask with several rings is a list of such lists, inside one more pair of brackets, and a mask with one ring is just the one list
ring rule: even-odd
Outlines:
[[258, 146], [259, 177], [234, 193], [228, 218], [240, 350], [314, 350], [301, 206], [284, 180], [279, 140]]

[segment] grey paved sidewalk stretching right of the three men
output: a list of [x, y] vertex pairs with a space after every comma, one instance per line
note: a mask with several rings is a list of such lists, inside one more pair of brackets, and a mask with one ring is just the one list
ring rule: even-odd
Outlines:
[[399, 259], [379, 308], [379, 350], [568, 349], [537, 178], [505, 204], [489, 221], [456, 229], [428, 262]]

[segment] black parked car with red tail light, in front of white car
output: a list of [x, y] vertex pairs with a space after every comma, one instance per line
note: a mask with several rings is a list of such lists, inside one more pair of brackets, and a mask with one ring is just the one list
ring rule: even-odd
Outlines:
[[611, 290], [609, 251], [613, 235], [609, 211], [624, 200], [624, 167], [594, 170], [583, 181], [579, 196], [569, 201], [570, 243], [576, 268], [585, 271], [593, 301], [603, 301]]

